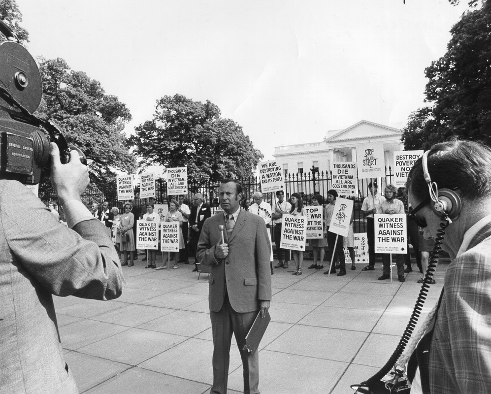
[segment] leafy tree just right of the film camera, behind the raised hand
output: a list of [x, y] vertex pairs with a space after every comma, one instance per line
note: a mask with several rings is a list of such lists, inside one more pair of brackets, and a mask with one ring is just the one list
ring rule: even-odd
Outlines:
[[38, 61], [43, 99], [36, 115], [58, 126], [67, 142], [84, 152], [91, 181], [106, 186], [114, 182], [116, 169], [134, 172], [135, 158], [123, 131], [131, 120], [126, 105], [63, 59]]

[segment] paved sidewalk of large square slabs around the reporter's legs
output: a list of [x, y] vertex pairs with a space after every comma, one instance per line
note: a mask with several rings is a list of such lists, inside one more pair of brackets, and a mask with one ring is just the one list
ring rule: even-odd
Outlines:
[[[208, 393], [213, 343], [207, 275], [198, 280], [193, 264], [145, 269], [142, 257], [123, 267], [127, 285], [116, 300], [54, 297], [65, 360], [79, 391]], [[283, 268], [272, 276], [271, 323], [260, 346], [262, 394], [353, 393], [351, 384], [372, 376], [392, 355], [421, 287], [417, 268], [405, 283], [394, 268], [391, 283], [377, 280], [381, 263], [367, 272], [348, 264], [342, 277], [307, 269], [310, 264], [304, 262], [301, 276]], [[438, 299], [447, 266], [437, 268], [420, 324]], [[232, 339], [229, 393], [242, 387]]]

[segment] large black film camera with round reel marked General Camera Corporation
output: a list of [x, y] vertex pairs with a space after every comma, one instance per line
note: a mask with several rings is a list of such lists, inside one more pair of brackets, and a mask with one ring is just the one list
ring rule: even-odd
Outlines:
[[[35, 185], [49, 175], [49, 143], [58, 145], [64, 164], [71, 149], [55, 126], [33, 115], [42, 98], [41, 73], [34, 58], [1, 21], [0, 32], [9, 39], [0, 44], [0, 179]], [[86, 164], [85, 155], [76, 150]]]

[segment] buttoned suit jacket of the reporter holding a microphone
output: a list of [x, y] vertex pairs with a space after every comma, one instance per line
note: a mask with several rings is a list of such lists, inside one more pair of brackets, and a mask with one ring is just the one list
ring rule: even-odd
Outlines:
[[206, 219], [197, 246], [198, 262], [211, 266], [210, 310], [222, 308], [225, 287], [234, 311], [259, 310], [259, 300], [271, 300], [270, 245], [264, 220], [241, 209], [228, 240], [224, 230], [229, 255], [217, 262], [215, 245], [221, 240], [220, 225], [225, 227], [222, 212]]

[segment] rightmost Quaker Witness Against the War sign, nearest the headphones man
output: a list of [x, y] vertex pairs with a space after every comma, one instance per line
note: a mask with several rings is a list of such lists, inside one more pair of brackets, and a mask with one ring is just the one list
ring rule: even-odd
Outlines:
[[375, 214], [375, 253], [407, 253], [406, 214]]

